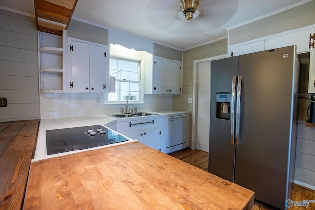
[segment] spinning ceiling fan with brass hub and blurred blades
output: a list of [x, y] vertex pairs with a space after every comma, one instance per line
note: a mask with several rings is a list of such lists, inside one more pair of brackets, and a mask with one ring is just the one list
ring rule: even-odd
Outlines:
[[205, 33], [227, 23], [238, 9], [238, 0], [150, 0], [146, 21], [171, 34]]

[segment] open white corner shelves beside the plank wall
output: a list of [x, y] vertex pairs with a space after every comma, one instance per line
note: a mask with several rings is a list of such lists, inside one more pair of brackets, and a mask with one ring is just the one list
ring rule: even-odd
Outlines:
[[40, 93], [63, 93], [63, 36], [38, 31], [38, 79]]

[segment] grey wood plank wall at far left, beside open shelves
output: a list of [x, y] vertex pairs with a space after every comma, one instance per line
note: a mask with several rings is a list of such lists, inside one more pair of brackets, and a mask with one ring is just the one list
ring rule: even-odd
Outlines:
[[34, 18], [0, 10], [0, 122], [40, 119]]

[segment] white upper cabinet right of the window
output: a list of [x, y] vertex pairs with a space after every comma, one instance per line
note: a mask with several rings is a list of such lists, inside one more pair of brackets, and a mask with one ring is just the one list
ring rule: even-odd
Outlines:
[[145, 78], [145, 83], [150, 84], [145, 94], [182, 94], [182, 63], [154, 56], [152, 78]]

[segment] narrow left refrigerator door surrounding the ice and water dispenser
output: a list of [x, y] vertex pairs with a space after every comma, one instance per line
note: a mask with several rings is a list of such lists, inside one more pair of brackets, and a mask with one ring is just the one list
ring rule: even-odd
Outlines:
[[237, 60], [232, 57], [211, 62], [208, 170], [229, 181], [233, 181], [235, 144], [231, 144], [231, 120], [216, 118], [216, 93], [231, 93]]

